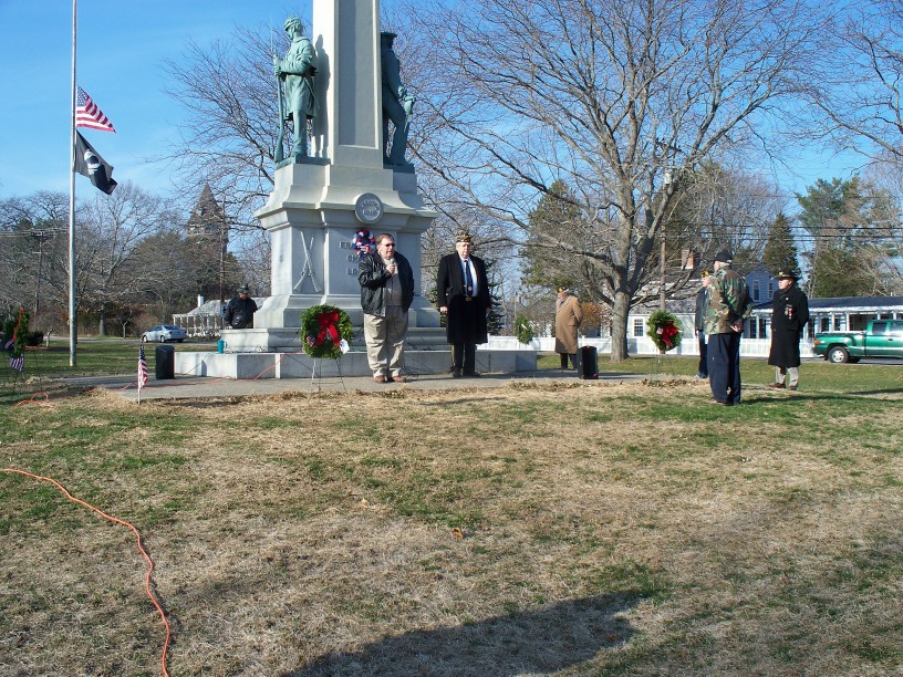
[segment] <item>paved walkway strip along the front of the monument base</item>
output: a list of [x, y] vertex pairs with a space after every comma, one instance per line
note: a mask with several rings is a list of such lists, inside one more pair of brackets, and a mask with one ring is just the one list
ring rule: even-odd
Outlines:
[[[600, 373], [600, 382], [632, 382], [644, 378], [643, 374], [620, 372]], [[62, 379], [71, 387], [107, 388], [132, 402], [137, 402], [138, 390], [135, 376], [81, 376]], [[157, 381], [153, 376], [141, 390], [141, 399], [196, 399], [215, 397], [240, 397], [246, 395], [272, 395], [276, 393], [318, 393], [357, 390], [376, 393], [409, 388], [415, 390], [442, 390], [453, 388], [494, 388], [511, 383], [596, 383], [581, 381], [574, 372], [544, 369], [540, 372], [518, 372], [515, 374], [484, 374], [479, 378], [453, 378], [450, 374], [424, 374], [409, 376], [406, 383], [380, 384], [371, 376], [324, 377], [324, 378], [259, 378], [236, 379], [205, 376], [177, 376]]]

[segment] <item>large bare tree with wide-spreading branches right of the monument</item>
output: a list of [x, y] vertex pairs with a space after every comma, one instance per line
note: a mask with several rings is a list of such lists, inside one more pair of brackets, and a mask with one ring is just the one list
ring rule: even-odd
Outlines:
[[685, 177], [720, 148], [764, 143], [759, 125], [799, 91], [818, 7], [474, 0], [433, 21], [418, 157], [523, 231], [564, 181], [583, 218], [536, 246], [592, 269], [612, 306], [612, 360], [625, 358], [627, 313]]

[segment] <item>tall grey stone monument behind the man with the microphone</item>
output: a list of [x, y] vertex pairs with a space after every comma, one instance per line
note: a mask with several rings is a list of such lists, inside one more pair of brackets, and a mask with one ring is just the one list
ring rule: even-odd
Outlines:
[[[291, 155], [278, 164], [269, 200], [256, 212], [271, 238], [271, 295], [255, 314], [253, 329], [222, 332], [226, 354], [197, 353], [194, 358], [177, 354], [177, 371], [238, 378], [261, 373], [266, 377], [311, 375], [312, 360], [301, 352], [299, 336], [304, 310], [334, 305], [344, 310], [355, 326], [363, 325], [354, 237], [366, 228], [373, 235], [392, 235], [414, 270], [415, 296], [405, 352], [408, 367], [416, 373], [446, 372], [450, 350], [445, 331], [439, 326], [438, 311], [421, 295], [421, 236], [436, 212], [425, 206], [417, 192], [414, 167], [404, 158], [414, 100], [401, 84], [392, 51], [395, 35], [380, 31], [380, 2], [318, 0], [313, 3], [310, 45], [302, 44], [308, 39], [297, 20], [287, 20], [286, 30], [292, 48], [286, 59], [274, 56], [276, 76], [300, 79], [294, 83], [295, 92], [307, 91], [303, 87], [311, 84], [315, 110], [294, 105], [292, 128], [303, 133], [307, 124], [301, 118], [307, 116], [311, 121], [310, 144], [295, 139]], [[292, 50], [308, 58], [315, 54], [315, 64], [293, 66]], [[392, 72], [384, 80], [386, 63]], [[383, 101], [386, 87], [390, 102]], [[281, 92], [280, 96], [280, 108], [284, 108], [289, 96]], [[288, 112], [280, 114], [284, 117]], [[390, 122], [394, 127], [392, 140], [386, 138]], [[291, 353], [291, 358], [284, 353]], [[328, 363], [316, 368], [322, 375], [340, 371], [349, 376], [370, 374], [363, 350], [346, 353], [340, 361], [319, 362]]]

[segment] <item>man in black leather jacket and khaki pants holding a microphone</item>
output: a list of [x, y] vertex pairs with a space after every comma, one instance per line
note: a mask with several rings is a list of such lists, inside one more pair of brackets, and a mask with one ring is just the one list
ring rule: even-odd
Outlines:
[[376, 238], [376, 251], [357, 267], [367, 361], [376, 383], [404, 383], [402, 362], [407, 338], [407, 311], [414, 301], [414, 271], [395, 251], [387, 232]]

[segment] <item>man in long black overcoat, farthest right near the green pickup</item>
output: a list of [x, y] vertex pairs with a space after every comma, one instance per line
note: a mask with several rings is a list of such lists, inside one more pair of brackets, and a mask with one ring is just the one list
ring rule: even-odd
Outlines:
[[778, 291], [771, 301], [771, 351], [768, 353], [768, 364], [775, 367], [775, 383], [769, 387], [796, 390], [799, 342], [809, 322], [809, 299], [797, 287], [797, 275], [792, 271], [782, 270], [777, 278]]

